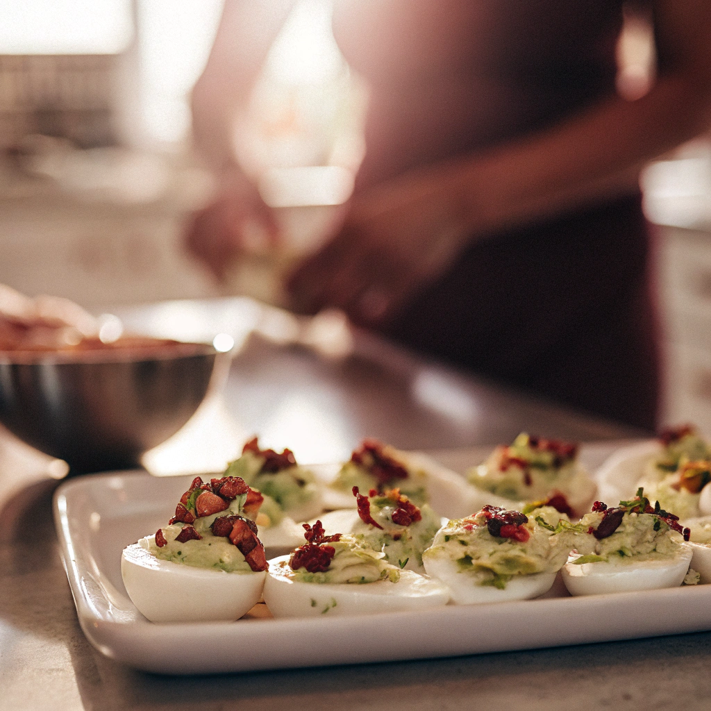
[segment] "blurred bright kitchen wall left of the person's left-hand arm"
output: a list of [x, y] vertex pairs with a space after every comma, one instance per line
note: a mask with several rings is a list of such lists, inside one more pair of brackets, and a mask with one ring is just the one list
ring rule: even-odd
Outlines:
[[188, 97], [222, 0], [0, 0], [0, 282], [91, 309], [215, 293]]

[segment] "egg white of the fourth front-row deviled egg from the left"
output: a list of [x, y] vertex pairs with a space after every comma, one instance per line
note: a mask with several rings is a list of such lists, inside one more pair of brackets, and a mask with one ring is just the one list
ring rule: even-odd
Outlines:
[[661, 560], [600, 561], [583, 565], [567, 562], [562, 568], [563, 582], [571, 595], [600, 595], [678, 587], [689, 570], [691, 557], [692, 547], [683, 543], [681, 550], [674, 557]]

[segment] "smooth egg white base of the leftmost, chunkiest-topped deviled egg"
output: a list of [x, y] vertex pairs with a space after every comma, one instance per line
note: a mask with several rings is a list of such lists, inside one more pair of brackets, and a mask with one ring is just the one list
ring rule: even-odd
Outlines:
[[126, 592], [151, 622], [239, 619], [260, 601], [266, 575], [266, 571], [228, 573], [161, 560], [140, 542], [121, 554]]

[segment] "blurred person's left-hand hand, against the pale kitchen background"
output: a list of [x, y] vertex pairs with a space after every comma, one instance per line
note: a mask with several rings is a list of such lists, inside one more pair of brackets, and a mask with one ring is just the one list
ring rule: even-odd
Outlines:
[[185, 235], [188, 251], [220, 281], [236, 257], [263, 254], [278, 240], [272, 209], [236, 169], [220, 178], [218, 197], [193, 215]]

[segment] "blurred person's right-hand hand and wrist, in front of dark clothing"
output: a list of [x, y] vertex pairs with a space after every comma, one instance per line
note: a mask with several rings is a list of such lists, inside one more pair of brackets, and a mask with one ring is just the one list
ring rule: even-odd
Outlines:
[[346, 311], [387, 322], [433, 282], [469, 240], [454, 171], [418, 171], [353, 198], [335, 237], [307, 257], [287, 287], [299, 311]]

